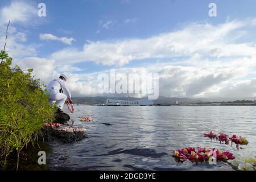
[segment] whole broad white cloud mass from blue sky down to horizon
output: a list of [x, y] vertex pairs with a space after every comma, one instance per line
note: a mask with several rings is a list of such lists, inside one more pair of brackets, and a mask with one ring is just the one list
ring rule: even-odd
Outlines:
[[[147, 39], [88, 41], [82, 50], [63, 49], [52, 53], [47, 59], [36, 57], [35, 50], [33, 53], [28, 51], [27, 46], [19, 44], [26, 40], [26, 34], [18, 34], [15, 28], [12, 30], [15, 36], [8, 43], [12, 45], [10, 50], [28, 54], [28, 57], [18, 61], [20, 67], [34, 68], [36, 77], [46, 84], [59, 77], [59, 73], [68, 75], [67, 85], [73, 96], [98, 96], [97, 76], [102, 72], [109, 73], [109, 70], [82, 73], [74, 63], [93, 61], [103, 65], [125, 65], [142, 59], [160, 59], [157, 63], [134, 68], [117, 67], [116, 72], [139, 75], [144, 72], [159, 73], [160, 96], [246, 97], [255, 95], [256, 74], [251, 80], [247, 76], [253, 74], [256, 67], [256, 47], [254, 42], [238, 43], [236, 40], [241, 38], [241, 31], [247, 26], [254, 25], [254, 21], [247, 19], [216, 26], [192, 23], [180, 30]], [[60, 38], [42, 34], [42, 39]], [[78, 73], [73, 73], [76, 71]]]

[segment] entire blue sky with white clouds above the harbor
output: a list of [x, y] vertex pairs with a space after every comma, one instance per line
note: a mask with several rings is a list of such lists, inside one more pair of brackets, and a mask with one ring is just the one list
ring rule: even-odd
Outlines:
[[[37, 15], [40, 2], [46, 17]], [[212, 2], [216, 17], [208, 15]], [[255, 7], [253, 0], [4, 0], [0, 40], [10, 19], [14, 63], [45, 82], [66, 73], [75, 96], [96, 96], [97, 75], [115, 68], [158, 72], [166, 97], [252, 97]]]

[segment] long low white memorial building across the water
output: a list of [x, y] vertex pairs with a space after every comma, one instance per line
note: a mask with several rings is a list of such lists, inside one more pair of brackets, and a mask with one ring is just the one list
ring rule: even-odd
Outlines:
[[107, 106], [152, 106], [152, 100], [137, 100], [137, 101], [124, 101], [108, 98], [106, 100]]

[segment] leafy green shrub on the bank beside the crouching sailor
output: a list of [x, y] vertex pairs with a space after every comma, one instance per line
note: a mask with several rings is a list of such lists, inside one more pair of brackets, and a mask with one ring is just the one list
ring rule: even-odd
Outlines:
[[[11, 152], [35, 143], [44, 123], [55, 117], [40, 80], [31, 76], [32, 69], [12, 68], [12, 58], [0, 52], [0, 169]], [[17, 165], [18, 166], [18, 165]]]

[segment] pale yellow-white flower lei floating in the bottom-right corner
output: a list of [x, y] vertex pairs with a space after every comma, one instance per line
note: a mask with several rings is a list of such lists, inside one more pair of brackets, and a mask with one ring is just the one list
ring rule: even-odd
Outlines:
[[256, 171], [256, 158], [254, 156], [246, 159], [228, 160], [228, 163], [240, 171]]

